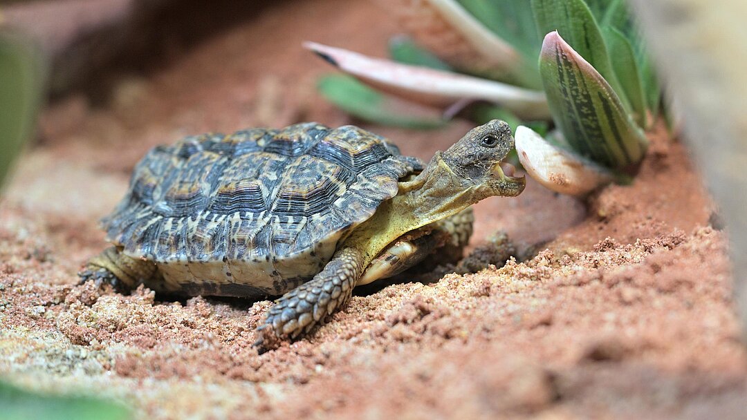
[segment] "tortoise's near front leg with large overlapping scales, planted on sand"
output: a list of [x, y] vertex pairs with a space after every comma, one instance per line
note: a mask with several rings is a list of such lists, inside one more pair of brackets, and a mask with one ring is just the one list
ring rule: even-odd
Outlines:
[[275, 301], [258, 330], [256, 347], [270, 333], [295, 339], [320, 325], [324, 317], [347, 304], [363, 272], [364, 257], [356, 248], [342, 248], [324, 269]]

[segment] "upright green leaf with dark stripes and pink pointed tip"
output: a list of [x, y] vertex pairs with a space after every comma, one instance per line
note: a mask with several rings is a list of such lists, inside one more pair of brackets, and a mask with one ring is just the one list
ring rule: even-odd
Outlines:
[[610, 84], [557, 32], [542, 43], [539, 71], [553, 119], [574, 151], [612, 169], [642, 159], [642, 131]]

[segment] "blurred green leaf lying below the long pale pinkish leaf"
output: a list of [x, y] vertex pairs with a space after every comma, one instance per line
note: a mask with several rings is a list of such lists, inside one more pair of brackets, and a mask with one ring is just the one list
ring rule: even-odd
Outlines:
[[438, 110], [382, 95], [350, 76], [327, 75], [320, 79], [318, 88], [341, 110], [366, 121], [405, 128], [438, 128], [445, 124]]

